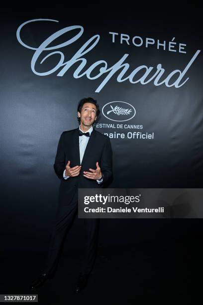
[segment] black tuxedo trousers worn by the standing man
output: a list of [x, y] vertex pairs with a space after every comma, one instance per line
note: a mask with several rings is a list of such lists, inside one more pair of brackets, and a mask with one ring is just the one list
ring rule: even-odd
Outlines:
[[[71, 228], [74, 218], [78, 215], [78, 192], [73, 197], [69, 205], [59, 205], [56, 219], [53, 226], [48, 255], [43, 269], [43, 273], [54, 274], [58, 265], [59, 257], [63, 248], [65, 237]], [[85, 226], [85, 249], [80, 272], [90, 274], [94, 267], [98, 233], [99, 219], [84, 219]]]

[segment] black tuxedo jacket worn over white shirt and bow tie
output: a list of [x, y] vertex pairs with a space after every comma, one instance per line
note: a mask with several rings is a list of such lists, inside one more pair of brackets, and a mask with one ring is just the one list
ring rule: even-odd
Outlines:
[[[78, 131], [79, 129], [74, 129], [63, 132], [57, 148], [54, 170], [61, 179], [59, 203], [63, 205], [69, 204], [78, 188], [100, 188], [112, 177], [112, 149], [109, 138], [93, 129], [81, 164]], [[68, 160], [71, 167], [82, 167], [78, 176], [64, 179], [63, 173]], [[96, 169], [96, 162], [99, 162], [103, 174], [100, 184], [97, 180], [88, 179], [83, 175], [83, 171], [90, 171], [89, 168]]]

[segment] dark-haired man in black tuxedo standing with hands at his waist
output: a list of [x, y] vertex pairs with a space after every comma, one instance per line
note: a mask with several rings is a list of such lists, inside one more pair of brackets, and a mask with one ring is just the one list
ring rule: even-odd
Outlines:
[[[31, 284], [32, 291], [53, 277], [64, 238], [78, 212], [78, 188], [100, 188], [112, 177], [112, 150], [108, 137], [93, 128], [100, 115], [93, 98], [78, 104], [79, 129], [62, 133], [54, 170], [61, 180], [59, 205], [45, 267], [40, 277]], [[86, 287], [94, 267], [99, 232], [99, 219], [85, 219], [86, 247], [75, 291]]]

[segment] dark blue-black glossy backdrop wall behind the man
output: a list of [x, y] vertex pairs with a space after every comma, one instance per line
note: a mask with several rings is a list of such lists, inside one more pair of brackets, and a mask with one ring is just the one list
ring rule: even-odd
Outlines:
[[[20, 30], [21, 42], [34, 49], [20, 44], [16, 37], [19, 26], [25, 21], [40, 18], [58, 22], [38, 20], [24, 25]], [[139, 17], [132, 13], [106, 13], [104, 16], [102, 11], [90, 17], [82, 9], [79, 11], [76, 8], [66, 13], [54, 9], [32, 12], [7, 10], [2, 11], [0, 22], [3, 29], [0, 49], [1, 232], [5, 249], [47, 248], [59, 186], [53, 171], [56, 148], [60, 134], [78, 126], [77, 103], [83, 97], [97, 99], [101, 110], [109, 103], [108, 107], [120, 105], [124, 111], [131, 109], [130, 114], [134, 110], [136, 112], [132, 119], [124, 122], [130, 115], [118, 116], [114, 113], [113, 116], [111, 112], [112, 116], [107, 116], [112, 108], [104, 108], [98, 122], [100, 125], [96, 126], [98, 131], [108, 135], [124, 134], [124, 139], [119, 136], [118, 139], [111, 139], [114, 180], [110, 187], [202, 187], [202, 36], [200, 22], [193, 22], [190, 10], [184, 14], [177, 12], [173, 18], [170, 14], [166, 16], [157, 12], [155, 15], [150, 11], [139, 14]], [[34, 62], [32, 58], [35, 50], [52, 34], [74, 25], [83, 28], [81, 37], [67, 46], [44, 50], [32, 68], [38, 74], [46, 72], [47, 75], [34, 73], [31, 61]], [[47, 47], [64, 43], [79, 32], [80, 29], [73, 29], [64, 33]], [[114, 42], [113, 34], [109, 32], [117, 33], [114, 34]], [[94, 78], [101, 73], [100, 77], [89, 79], [84, 75], [75, 78], [73, 75], [82, 60], [72, 62], [73, 65], [63, 76], [57, 74], [65, 65], [48, 74], [63, 55], [61, 64], [70, 61], [95, 35], [99, 36], [93, 42], [99, 37], [98, 43], [81, 56], [87, 63], [78, 74], [102, 60], [101, 65], [90, 74]], [[133, 44], [135, 36], [138, 37], [134, 38]], [[162, 45], [164, 41], [165, 47]], [[197, 53], [198, 50], [201, 52]], [[56, 51], [61, 53], [49, 55]], [[96, 92], [110, 73], [109, 68], [124, 54], [128, 54], [122, 62], [126, 65], [115, 70], [103, 88]], [[177, 72], [168, 82], [169, 86], [166, 86], [163, 81], [167, 76], [174, 70], [183, 72], [195, 54], [197, 57], [188, 66], [179, 85], [189, 78], [186, 83], [179, 88], [169, 87], [180, 76], [180, 72]], [[43, 61], [47, 55], [49, 57]], [[119, 80], [118, 76], [124, 67], [126, 73], [120, 75], [121, 80], [142, 65], [146, 67], [131, 79], [137, 83], [129, 79]], [[105, 67], [103, 74], [100, 70], [102, 67]], [[154, 84], [155, 77], [147, 84], [138, 81], [149, 71], [149, 67], [153, 68], [145, 81], [157, 69], [159, 72], [163, 72], [161, 67], [165, 69], [159, 80], [163, 82], [162, 85]], [[123, 128], [117, 128], [117, 124], [123, 124]], [[124, 128], [125, 124], [130, 126]], [[128, 138], [128, 133], [138, 132], [153, 134], [153, 139], [137, 139], [137, 136], [134, 136], [135, 139]], [[176, 238], [195, 234], [198, 225], [197, 220], [105, 219], [101, 222], [100, 243], [123, 244]], [[80, 247], [82, 238], [75, 239], [80, 229], [81, 224], [76, 220], [76, 226], [69, 236], [69, 245], [72, 247]]]

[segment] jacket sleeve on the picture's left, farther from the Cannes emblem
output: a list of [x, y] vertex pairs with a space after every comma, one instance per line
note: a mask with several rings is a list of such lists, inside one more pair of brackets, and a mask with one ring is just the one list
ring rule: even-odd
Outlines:
[[59, 144], [54, 162], [54, 170], [59, 179], [63, 179], [63, 172], [66, 169], [63, 137], [64, 133], [61, 134], [61, 137], [59, 139]]

